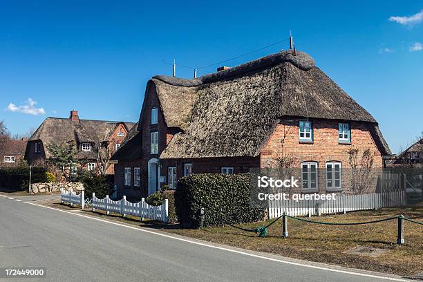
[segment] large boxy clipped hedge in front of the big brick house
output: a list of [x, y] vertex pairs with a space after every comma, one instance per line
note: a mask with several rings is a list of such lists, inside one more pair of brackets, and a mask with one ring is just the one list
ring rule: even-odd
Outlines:
[[207, 173], [180, 178], [175, 206], [182, 227], [200, 226], [201, 207], [205, 227], [263, 220], [263, 210], [250, 208], [249, 177], [248, 173]]

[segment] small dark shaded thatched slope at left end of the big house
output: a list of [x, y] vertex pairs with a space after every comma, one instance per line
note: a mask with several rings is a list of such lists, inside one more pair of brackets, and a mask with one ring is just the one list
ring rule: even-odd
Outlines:
[[111, 160], [136, 160], [142, 156], [142, 135], [138, 131], [138, 124], [135, 124], [132, 129], [126, 134], [125, 139], [120, 144], [118, 151], [116, 151]]

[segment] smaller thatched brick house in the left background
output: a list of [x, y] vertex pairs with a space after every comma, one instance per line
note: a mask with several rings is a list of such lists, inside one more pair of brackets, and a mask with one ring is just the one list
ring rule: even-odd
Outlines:
[[28, 140], [25, 160], [28, 164], [44, 166], [46, 160], [54, 158], [48, 144], [66, 147], [71, 143], [79, 164], [64, 164], [69, 174], [79, 168], [113, 174], [110, 156], [120, 148], [133, 125], [133, 122], [82, 120], [77, 111], [71, 111], [69, 118], [46, 118]]

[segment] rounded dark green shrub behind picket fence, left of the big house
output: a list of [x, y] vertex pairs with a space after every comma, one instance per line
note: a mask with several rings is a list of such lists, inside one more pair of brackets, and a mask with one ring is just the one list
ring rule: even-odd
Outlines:
[[86, 171], [79, 180], [84, 184], [85, 198], [93, 198], [95, 193], [95, 197], [101, 199], [113, 190], [107, 176], [97, 176], [91, 171]]

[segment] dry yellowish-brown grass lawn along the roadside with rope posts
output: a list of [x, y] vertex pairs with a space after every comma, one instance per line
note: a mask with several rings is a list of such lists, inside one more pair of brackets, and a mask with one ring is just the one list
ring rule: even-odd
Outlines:
[[[44, 204], [62, 209], [77, 209], [60, 205], [57, 200], [44, 201]], [[368, 225], [335, 226], [305, 223], [288, 218], [288, 238], [281, 237], [281, 220], [269, 228], [267, 237], [260, 238], [254, 233], [243, 232], [229, 226], [180, 229], [179, 225], [163, 225], [153, 220], [140, 222], [140, 218], [133, 216], [127, 218], [114, 214], [107, 216], [102, 211], [90, 212], [89, 209], [86, 209], [84, 213], [247, 250], [280, 254], [294, 259], [400, 275], [423, 272], [423, 225], [415, 223], [404, 222], [405, 244], [397, 245], [397, 220]], [[423, 221], [423, 207], [386, 208], [312, 217], [311, 220], [348, 223], [377, 220], [398, 214]], [[267, 225], [270, 222], [272, 220], [264, 224]], [[253, 229], [262, 225], [263, 223], [252, 223], [238, 226]], [[379, 256], [346, 253], [357, 246], [375, 247], [384, 252]]]

